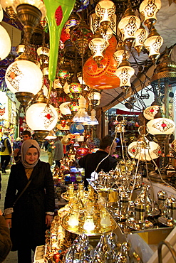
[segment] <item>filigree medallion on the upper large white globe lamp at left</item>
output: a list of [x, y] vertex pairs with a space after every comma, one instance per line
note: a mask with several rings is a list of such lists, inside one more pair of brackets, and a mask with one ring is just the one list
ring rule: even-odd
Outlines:
[[14, 63], [14, 65], [6, 73], [6, 79], [16, 91], [19, 91], [19, 83], [23, 76], [24, 74], [21, 70], [19, 70], [17, 63]]

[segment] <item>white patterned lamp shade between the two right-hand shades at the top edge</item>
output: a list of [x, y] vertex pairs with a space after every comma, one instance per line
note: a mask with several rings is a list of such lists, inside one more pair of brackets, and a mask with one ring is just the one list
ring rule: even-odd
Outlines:
[[135, 32], [140, 28], [140, 18], [135, 15], [124, 16], [118, 23], [118, 28], [123, 33], [123, 41], [128, 38], [135, 38]]

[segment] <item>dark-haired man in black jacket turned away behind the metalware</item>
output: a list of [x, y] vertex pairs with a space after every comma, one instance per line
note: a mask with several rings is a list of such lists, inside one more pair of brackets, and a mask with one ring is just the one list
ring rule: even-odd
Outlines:
[[[91, 173], [95, 171], [99, 173], [101, 170], [107, 173], [111, 169], [115, 169], [117, 161], [112, 157], [112, 155], [115, 152], [116, 146], [117, 144], [113, 137], [106, 135], [100, 141], [100, 149], [98, 151], [94, 154], [87, 154], [83, 158], [79, 159], [79, 166], [85, 168], [85, 186], [88, 186], [86, 178], [90, 178]], [[100, 163], [100, 161], [102, 161], [102, 163]], [[100, 165], [98, 166], [99, 163]]]

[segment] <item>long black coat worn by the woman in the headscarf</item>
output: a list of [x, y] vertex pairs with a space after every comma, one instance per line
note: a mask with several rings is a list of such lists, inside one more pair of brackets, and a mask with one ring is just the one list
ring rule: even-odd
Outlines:
[[[14, 206], [11, 221], [11, 240], [18, 249], [28, 244], [31, 248], [45, 244], [46, 212], [53, 212], [54, 187], [49, 163], [38, 161], [31, 173], [32, 181]], [[12, 208], [28, 178], [22, 163], [11, 166], [4, 208]]]

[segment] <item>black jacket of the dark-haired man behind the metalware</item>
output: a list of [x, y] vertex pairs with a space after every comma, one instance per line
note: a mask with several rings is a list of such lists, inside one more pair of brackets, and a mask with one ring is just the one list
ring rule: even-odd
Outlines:
[[[98, 150], [93, 154], [87, 154], [83, 158], [79, 159], [79, 166], [85, 168], [85, 186], [88, 186], [86, 178], [90, 178], [91, 173], [95, 171], [98, 163], [100, 163], [100, 161], [103, 160], [105, 156], [108, 156], [108, 153]], [[112, 156], [108, 156], [102, 163], [100, 163], [100, 166], [98, 166], [97, 173], [99, 173], [101, 170], [107, 173], [111, 169], [115, 169], [116, 164], [117, 161]]]

